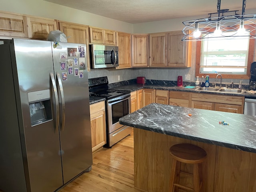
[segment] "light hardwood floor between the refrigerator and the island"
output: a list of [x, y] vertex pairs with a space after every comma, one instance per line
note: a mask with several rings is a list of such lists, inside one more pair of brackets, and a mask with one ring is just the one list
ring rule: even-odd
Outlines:
[[58, 192], [142, 192], [134, 188], [133, 133], [93, 154], [93, 165]]

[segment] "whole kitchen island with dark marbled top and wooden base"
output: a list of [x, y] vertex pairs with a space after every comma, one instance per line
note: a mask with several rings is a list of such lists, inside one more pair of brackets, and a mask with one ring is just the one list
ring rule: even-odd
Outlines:
[[[190, 116], [188, 114], [191, 114]], [[229, 125], [219, 124], [226, 121]], [[192, 143], [207, 152], [203, 163], [206, 192], [256, 191], [256, 116], [150, 104], [119, 120], [134, 129], [134, 185], [167, 192], [170, 146]], [[192, 166], [182, 164], [192, 172]], [[180, 182], [192, 186], [191, 178]]]

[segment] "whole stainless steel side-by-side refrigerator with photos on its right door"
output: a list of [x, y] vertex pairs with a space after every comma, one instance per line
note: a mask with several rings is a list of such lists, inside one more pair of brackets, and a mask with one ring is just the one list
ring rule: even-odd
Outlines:
[[86, 46], [0, 45], [0, 190], [52, 192], [92, 166]]

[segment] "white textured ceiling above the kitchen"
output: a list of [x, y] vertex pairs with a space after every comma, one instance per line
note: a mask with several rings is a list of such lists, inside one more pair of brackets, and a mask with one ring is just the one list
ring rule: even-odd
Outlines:
[[[216, 12], [217, 0], [46, 0], [70, 8], [128, 23], [142, 23]], [[239, 10], [242, 0], [222, 0], [221, 9]], [[255, 0], [246, 1], [246, 10], [256, 9]], [[245, 12], [246, 13], [246, 12]]]

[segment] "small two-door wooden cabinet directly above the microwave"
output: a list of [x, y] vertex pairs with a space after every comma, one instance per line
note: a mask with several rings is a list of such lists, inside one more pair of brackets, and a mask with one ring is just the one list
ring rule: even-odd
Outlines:
[[116, 32], [90, 27], [90, 43], [116, 45]]

